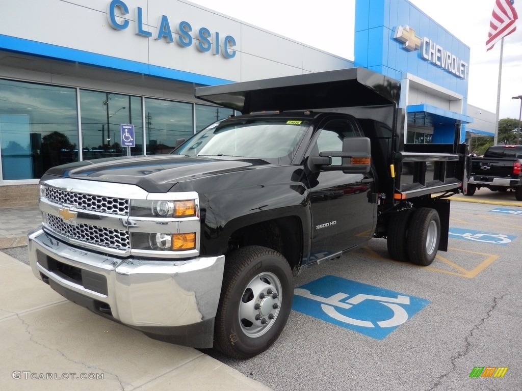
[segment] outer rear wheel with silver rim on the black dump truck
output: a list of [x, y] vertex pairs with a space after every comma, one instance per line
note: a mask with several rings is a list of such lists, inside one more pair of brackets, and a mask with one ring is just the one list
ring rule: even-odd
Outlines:
[[411, 263], [428, 266], [437, 255], [441, 240], [441, 219], [436, 210], [429, 207], [419, 208], [413, 216], [408, 242], [408, 256]]

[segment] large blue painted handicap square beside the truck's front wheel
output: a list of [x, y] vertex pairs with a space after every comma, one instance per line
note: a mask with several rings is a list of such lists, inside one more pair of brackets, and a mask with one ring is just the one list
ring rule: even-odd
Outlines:
[[419, 297], [324, 276], [294, 289], [292, 309], [383, 339], [428, 304]]

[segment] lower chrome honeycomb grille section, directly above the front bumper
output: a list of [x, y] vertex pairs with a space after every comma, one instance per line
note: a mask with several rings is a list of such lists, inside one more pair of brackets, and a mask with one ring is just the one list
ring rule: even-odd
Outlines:
[[115, 250], [129, 250], [129, 233], [121, 229], [97, 227], [89, 224], [67, 224], [62, 218], [45, 213], [47, 225], [57, 234], [70, 239]]

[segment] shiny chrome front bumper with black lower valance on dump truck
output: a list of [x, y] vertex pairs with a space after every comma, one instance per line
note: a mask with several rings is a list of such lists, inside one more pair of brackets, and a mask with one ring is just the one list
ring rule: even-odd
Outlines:
[[34, 275], [67, 299], [151, 337], [212, 346], [224, 255], [115, 258], [71, 247], [41, 228], [30, 233], [28, 241]]

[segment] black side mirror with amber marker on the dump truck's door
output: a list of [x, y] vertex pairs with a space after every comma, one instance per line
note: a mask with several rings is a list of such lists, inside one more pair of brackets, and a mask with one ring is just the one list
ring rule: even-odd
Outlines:
[[311, 156], [311, 163], [319, 170], [341, 171], [345, 174], [366, 174], [371, 167], [371, 144], [367, 137], [346, 137], [342, 152], [320, 152]]

